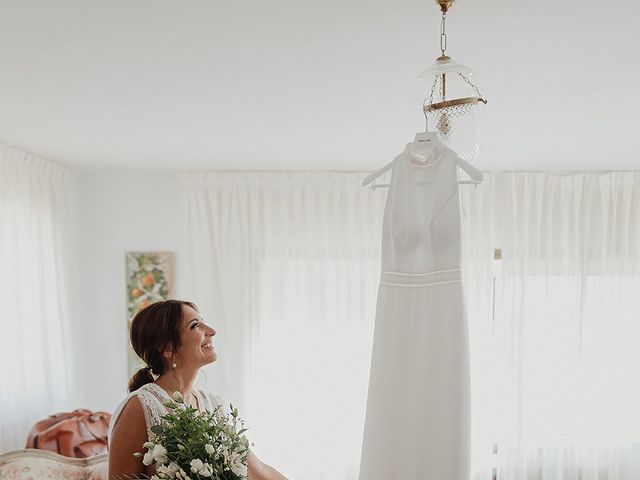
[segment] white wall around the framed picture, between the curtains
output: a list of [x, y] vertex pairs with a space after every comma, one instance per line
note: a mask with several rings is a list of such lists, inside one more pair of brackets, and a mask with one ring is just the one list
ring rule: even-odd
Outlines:
[[126, 394], [125, 252], [174, 252], [174, 296], [186, 294], [183, 202], [175, 173], [74, 172], [69, 297], [77, 407], [112, 411]]

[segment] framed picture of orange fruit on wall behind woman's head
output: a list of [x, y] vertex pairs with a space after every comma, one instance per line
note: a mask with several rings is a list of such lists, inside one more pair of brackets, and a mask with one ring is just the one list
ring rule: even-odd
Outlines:
[[134, 315], [144, 307], [173, 296], [173, 253], [126, 252], [127, 344], [129, 377], [144, 365], [131, 348], [129, 329]]

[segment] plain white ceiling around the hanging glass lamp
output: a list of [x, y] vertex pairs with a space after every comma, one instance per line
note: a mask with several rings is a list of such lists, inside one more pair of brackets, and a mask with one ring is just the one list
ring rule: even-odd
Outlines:
[[[458, 0], [483, 170], [640, 169], [640, 2]], [[0, 142], [80, 170], [373, 170], [424, 129], [433, 0], [0, 0]]]

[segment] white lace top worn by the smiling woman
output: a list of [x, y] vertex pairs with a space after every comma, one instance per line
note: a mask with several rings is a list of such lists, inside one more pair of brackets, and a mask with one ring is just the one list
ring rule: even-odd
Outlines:
[[[218, 395], [207, 393], [203, 390], [191, 390], [198, 401], [199, 411], [213, 412], [216, 407], [222, 405], [222, 398]], [[132, 397], [138, 397], [142, 404], [142, 410], [144, 411], [144, 420], [147, 425], [147, 438], [152, 440], [154, 433], [151, 431], [151, 427], [158, 425], [162, 422], [161, 415], [168, 413], [167, 408], [162, 404], [166, 400], [172, 400], [170, 395], [159, 385], [155, 383], [147, 383], [140, 387], [138, 390], [131, 392], [127, 397], [120, 402], [116, 407], [113, 415], [111, 415], [111, 421], [109, 422], [109, 446], [111, 446], [111, 434], [115, 427], [122, 410]]]

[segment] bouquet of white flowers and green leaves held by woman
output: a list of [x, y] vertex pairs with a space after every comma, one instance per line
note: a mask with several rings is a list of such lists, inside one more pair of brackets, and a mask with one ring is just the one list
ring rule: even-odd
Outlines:
[[169, 413], [163, 422], [151, 427], [155, 437], [143, 445], [147, 452], [134, 454], [156, 465], [151, 480], [246, 480], [249, 441], [238, 410], [230, 404], [229, 414], [222, 406], [198, 413], [180, 392], [173, 400], [164, 402]]

